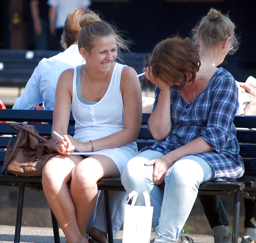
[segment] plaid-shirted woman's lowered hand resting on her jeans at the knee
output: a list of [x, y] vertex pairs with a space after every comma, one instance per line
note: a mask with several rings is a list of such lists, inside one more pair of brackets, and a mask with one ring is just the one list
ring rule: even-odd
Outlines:
[[164, 181], [165, 173], [174, 162], [167, 160], [165, 156], [160, 156], [145, 163], [145, 165], [155, 165], [153, 172], [153, 182], [155, 185], [160, 185]]

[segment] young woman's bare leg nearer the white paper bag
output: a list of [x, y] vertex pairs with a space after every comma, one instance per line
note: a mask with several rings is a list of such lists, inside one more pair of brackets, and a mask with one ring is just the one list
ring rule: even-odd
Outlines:
[[79, 162], [72, 170], [71, 195], [76, 208], [76, 219], [82, 235], [95, 206], [98, 194], [97, 181], [102, 177], [119, 177], [113, 160], [94, 155]]

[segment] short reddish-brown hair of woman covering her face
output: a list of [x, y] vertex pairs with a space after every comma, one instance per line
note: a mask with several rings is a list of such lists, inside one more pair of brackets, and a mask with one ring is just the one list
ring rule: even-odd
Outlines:
[[[201, 66], [197, 48], [193, 42], [176, 36], [159, 42], [149, 60], [153, 75], [162, 80], [179, 83], [181, 90], [186, 82], [193, 82]], [[190, 79], [187, 81], [187, 75]]]

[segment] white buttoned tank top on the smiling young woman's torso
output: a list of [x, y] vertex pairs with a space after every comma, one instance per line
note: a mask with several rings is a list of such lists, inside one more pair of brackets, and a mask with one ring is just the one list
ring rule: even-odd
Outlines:
[[[84, 104], [77, 96], [77, 79], [81, 80], [81, 66], [74, 68], [72, 114], [76, 121], [74, 138], [81, 142], [103, 138], [124, 128], [124, 105], [120, 92], [121, 73], [124, 65], [115, 63], [109, 87], [102, 99], [95, 104]], [[84, 100], [86, 101], [86, 100]]]

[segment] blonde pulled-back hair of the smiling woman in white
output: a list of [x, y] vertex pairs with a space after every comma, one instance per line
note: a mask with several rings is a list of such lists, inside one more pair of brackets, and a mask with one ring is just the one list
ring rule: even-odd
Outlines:
[[[125, 40], [118, 30], [108, 22], [105, 21], [94, 21], [88, 22], [85, 17], [80, 19], [81, 30], [78, 34], [78, 49], [81, 47], [91, 52], [94, 47], [94, 39], [113, 35], [116, 40], [117, 52], [120, 50], [129, 51], [128, 45], [129, 40]], [[118, 58], [120, 56], [118, 55]]]

